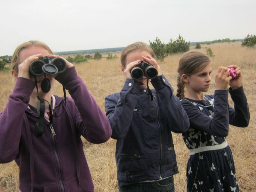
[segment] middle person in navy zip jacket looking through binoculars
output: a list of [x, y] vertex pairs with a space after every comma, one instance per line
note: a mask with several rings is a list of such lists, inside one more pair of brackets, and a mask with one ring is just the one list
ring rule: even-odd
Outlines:
[[[148, 78], [135, 81], [131, 76], [131, 69], [141, 60], [158, 72], [151, 80], [153, 100]], [[147, 44], [136, 42], [124, 48], [121, 70], [126, 77], [123, 89], [105, 99], [111, 137], [117, 140], [119, 191], [174, 191], [173, 175], [179, 171], [171, 131], [186, 132], [188, 117]]]

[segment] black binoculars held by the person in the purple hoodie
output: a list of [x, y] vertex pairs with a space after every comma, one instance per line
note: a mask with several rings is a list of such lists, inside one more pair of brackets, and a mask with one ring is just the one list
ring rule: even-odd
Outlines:
[[29, 71], [33, 76], [41, 76], [43, 74], [56, 75], [67, 69], [67, 63], [62, 58], [40, 57], [38, 60], [31, 62]]

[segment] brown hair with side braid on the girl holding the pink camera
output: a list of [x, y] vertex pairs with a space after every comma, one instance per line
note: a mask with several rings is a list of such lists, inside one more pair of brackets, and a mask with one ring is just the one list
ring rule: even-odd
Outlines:
[[185, 97], [184, 88], [186, 84], [182, 80], [181, 76], [183, 74], [189, 76], [195, 74], [197, 71], [200, 71], [205, 66], [211, 62], [211, 59], [202, 52], [199, 51], [188, 51], [185, 52], [179, 62], [178, 67], [178, 78], [177, 78], [177, 97], [181, 100]]

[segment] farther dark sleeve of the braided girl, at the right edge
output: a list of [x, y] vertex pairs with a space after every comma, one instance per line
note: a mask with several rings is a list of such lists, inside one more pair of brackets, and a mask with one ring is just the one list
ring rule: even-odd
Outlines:
[[250, 121], [250, 111], [243, 86], [236, 90], [229, 88], [228, 91], [234, 102], [234, 108], [229, 106], [229, 124], [237, 127], [247, 127]]

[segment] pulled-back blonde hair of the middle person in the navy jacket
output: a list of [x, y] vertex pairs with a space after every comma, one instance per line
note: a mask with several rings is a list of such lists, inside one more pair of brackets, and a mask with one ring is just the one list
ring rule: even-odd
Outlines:
[[153, 58], [155, 57], [154, 51], [149, 45], [143, 42], [135, 42], [125, 47], [121, 53], [121, 64], [124, 68], [127, 55], [133, 51], [147, 51]]

